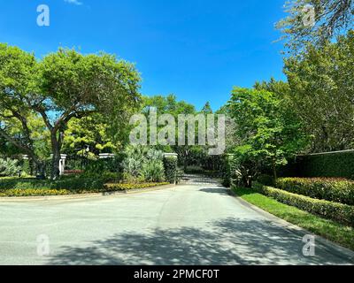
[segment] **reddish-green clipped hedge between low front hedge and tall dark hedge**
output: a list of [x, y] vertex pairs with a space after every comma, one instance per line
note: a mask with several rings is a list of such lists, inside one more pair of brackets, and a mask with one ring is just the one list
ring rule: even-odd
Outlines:
[[276, 187], [298, 195], [354, 205], [354, 181], [331, 178], [281, 178]]

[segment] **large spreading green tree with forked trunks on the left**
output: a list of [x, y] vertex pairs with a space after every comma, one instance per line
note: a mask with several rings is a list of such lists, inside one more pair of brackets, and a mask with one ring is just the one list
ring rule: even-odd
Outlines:
[[[29, 113], [39, 115], [50, 133], [51, 177], [56, 179], [69, 121], [99, 112], [119, 133], [139, 103], [139, 83], [134, 65], [109, 54], [60, 49], [38, 60], [34, 54], [1, 44], [0, 135], [41, 165], [27, 122]], [[23, 141], [6, 131], [3, 119], [10, 118], [21, 123]]]

